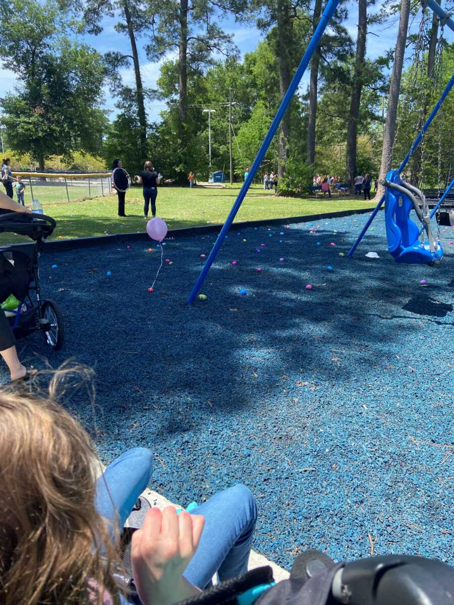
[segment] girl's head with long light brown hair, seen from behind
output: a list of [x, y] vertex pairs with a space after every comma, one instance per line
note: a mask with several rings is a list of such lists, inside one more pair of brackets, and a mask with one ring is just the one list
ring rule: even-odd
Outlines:
[[61, 378], [47, 396], [0, 391], [3, 605], [97, 605], [105, 590], [118, 593], [116, 551], [94, 508], [96, 459], [88, 434], [54, 399]]

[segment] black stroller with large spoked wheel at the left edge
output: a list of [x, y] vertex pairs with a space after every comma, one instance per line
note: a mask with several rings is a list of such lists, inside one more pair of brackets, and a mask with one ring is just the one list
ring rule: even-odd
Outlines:
[[[35, 241], [30, 252], [11, 246], [0, 249], [0, 301], [13, 295], [19, 305], [10, 309], [2, 305], [16, 338], [41, 330], [47, 344], [54, 350], [62, 347], [63, 316], [56, 302], [41, 301], [38, 258], [43, 241], [56, 227], [53, 218], [44, 214], [8, 212], [0, 215], [0, 233], [27, 235]], [[31, 292], [36, 295], [31, 298]], [[14, 303], [15, 304], [15, 303]]]

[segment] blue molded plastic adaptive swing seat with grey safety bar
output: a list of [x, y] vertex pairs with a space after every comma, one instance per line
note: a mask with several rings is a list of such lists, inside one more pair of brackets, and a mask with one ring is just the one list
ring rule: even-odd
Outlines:
[[[443, 249], [430, 229], [430, 216], [424, 195], [401, 179], [397, 170], [386, 175], [385, 223], [388, 250], [397, 263], [438, 264]], [[419, 198], [419, 199], [418, 199]], [[414, 210], [426, 231], [427, 241], [419, 241], [419, 227], [410, 218]]]

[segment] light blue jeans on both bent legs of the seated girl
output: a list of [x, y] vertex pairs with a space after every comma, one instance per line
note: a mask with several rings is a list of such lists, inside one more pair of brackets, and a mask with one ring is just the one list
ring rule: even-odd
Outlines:
[[[116, 512], [119, 527], [146, 489], [153, 469], [153, 455], [134, 448], [114, 460], [96, 483], [96, 509], [107, 519], [114, 536]], [[257, 520], [254, 497], [244, 485], [234, 485], [204, 502], [194, 511], [205, 517], [199, 548], [183, 574], [191, 584], [205, 588], [217, 572], [219, 580], [243, 574], [248, 569], [252, 534]]]

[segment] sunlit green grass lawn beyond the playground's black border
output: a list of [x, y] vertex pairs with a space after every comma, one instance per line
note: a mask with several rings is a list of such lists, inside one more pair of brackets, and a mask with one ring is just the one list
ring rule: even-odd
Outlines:
[[[157, 215], [166, 221], [169, 229], [222, 224], [239, 189], [240, 185], [225, 189], [164, 186], [159, 188], [157, 196]], [[35, 190], [33, 193], [35, 194]], [[61, 193], [61, 200], [56, 199], [54, 191], [51, 192], [51, 197], [45, 194], [37, 196], [44, 207], [44, 213], [57, 221], [51, 239], [145, 231], [142, 189], [139, 187], [131, 188], [126, 194], [127, 218], [117, 216], [116, 195], [68, 203], [65, 201], [65, 192]], [[259, 185], [254, 185], [249, 189], [235, 221], [304, 216], [321, 212], [372, 208], [373, 205], [373, 200], [364, 202], [362, 198], [355, 197], [332, 197], [331, 200], [320, 197], [317, 199], [275, 197], [263, 191]], [[151, 211], [149, 214], [151, 216]], [[30, 240], [13, 234], [0, 236], [0, 243], [19, 241]]]

